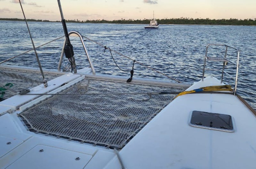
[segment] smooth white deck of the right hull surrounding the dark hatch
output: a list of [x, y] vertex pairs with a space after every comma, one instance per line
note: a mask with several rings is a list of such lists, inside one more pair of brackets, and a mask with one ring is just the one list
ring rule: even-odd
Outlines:
[[[221, 84], [206, 78], [188, 90], [208, 85]], [[231, 115], [235, 131], [190, 126], [194, 110]], [[255, 169], [255, 128], [255, 115], [232, 94], [181, 95], [120, 151], [120, 157], [125, 168], [133, 169]], [[118, 165], [116, 158], [106, 169]]]

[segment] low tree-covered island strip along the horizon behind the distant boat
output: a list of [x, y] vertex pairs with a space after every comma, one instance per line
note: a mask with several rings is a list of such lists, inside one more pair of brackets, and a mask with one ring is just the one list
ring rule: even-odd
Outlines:
[[[0, 20], [9, 20], [9, 21], [24, 21], [24, 19], [18, 18], [0, 18]], [[256, 18], [253, 19], [201, 19], [201, 18], [172, 18], [172, 19], [156, 19], [159, 24], [176, 24], [176, 25], [256, 25]], [[40, 20], [40, 19], [27, 19], [27, 21], [33, 22], [61, 22], [57, 21], [49, 21], [49, 20]], [[121, 19], [121, 20], [105, 20], [105, 19], [97, 19], [97, 20], [65, 20], [66, 23], [108, 23], [108, 24], [149, 24], [150, 19]]]

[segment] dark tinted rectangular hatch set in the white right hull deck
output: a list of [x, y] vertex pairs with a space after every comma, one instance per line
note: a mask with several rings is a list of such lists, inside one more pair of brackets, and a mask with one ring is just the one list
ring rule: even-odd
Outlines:
[[191, 113], [191, 126], [233, 132], [233, 121], [230, 115], [193, 111]]

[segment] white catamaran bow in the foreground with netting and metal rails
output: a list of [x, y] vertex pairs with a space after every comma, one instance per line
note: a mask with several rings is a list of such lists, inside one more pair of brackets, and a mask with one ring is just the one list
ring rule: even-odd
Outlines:
[[[236, 92], [239, 49], [208, 44], [193, 84], [126, 81], [96, 74], [84, 36], [68, 35], [79, 36], [90, 68], [76, 69], [68, 38], [56, 70], [0, 66], [0, 168], [255, 168], [256, 112]], [[223, 56], [209, 50], [222, 47]], [[61, 71], [64, 53], [72, 72]], [[234, 58], [231, 87], [223, 77]], [[213, 62], [220, 80], [207, 76]]]

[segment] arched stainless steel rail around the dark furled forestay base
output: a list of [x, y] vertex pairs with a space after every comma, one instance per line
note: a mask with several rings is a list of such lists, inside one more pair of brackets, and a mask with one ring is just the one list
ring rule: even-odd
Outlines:
[[[76, 34], [78, 37], [80, 37], [80, 40], [81, 40], [82, 45], [83, 45], [83, 47], [84, 47], [84, 51], [85, 51], [85, 53], [86, 53], [87, 59], [88, 59], [88, 61], [89, 61], [89, 64], [90, 64], [90, 67], [91, 67], [91, 70], [92, 70], [92, 74], [95, 75], [95, 70], [94, 70], [94, 67], [93, 67], [93, 64], [92, 64], [92, 61], [91, 61], [91, 57], [90, 57], [89, 52], [88, 52], [88, 50], [87, 50], [87, 47], [86, 47], [86, 45], [85, 45], [85, 43], [84, 43], [84, 38], [83, 38], [83, 36], [82, 36], [79, 32], [77, 32], [77, 31], [71, 31], [71, 32], [69, 32], [69, 33], [68, 33], [68, 36], [71, 35], [71, 34]], [[63, 60], [64, 47], [65, 47], [65, 45], [66, 45], [66, 41], [67, 41], [67, 40], [65, 39], [65, 40], [64, 40], [63, 47], [62, 47], [61, 55], [60, 55], [60, 61], [59, 61], [59, 65], [58, 65], [58, 71], [59, 71], [59, 72], [60, 72], [60, 67], [61, 67], [62, 60]]]

